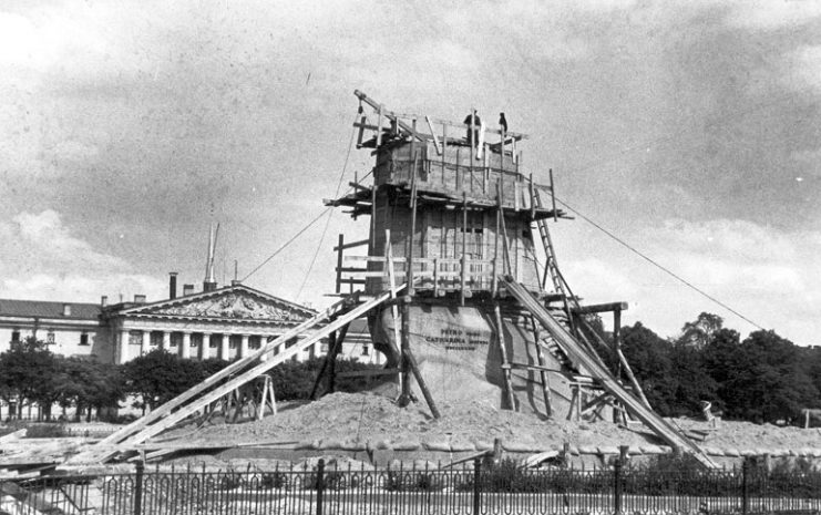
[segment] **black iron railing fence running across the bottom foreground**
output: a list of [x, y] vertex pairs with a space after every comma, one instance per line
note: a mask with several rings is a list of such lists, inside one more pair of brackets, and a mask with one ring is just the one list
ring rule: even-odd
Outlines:
[[145, 471], [0, 481], [9, 515], [821, 513], [821, 473], [312, 467]]

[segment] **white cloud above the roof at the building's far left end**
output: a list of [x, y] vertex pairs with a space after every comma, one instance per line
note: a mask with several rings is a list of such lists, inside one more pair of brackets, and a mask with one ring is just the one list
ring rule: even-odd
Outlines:
[[133, 272], [126, 260], [95, 250], [63, 225], [59, 213], [20, 213], [0, 223], [11, 243], [0, 249], [0, 296], [94, 301], [101, 295], [163, 295], [164, 282]]

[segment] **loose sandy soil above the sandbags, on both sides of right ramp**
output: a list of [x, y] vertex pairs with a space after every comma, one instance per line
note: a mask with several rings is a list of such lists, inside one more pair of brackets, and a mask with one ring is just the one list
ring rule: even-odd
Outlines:
[[[573, 445], [642, 445], [661, 443], [640, 425], [635, 430], [610, 422], [569, 422], [564, 413], [553, 420], [533, 414], [499, 410], [490, 403], [471, 402], [439, 406], [443, 416], [433, 419], [424, 404], [401, 409], [390, 399], [372, 393], [333, 393], [311, 403], [280, 405], [279, 413], [261, 421], [211, 425], [176, 430], [167, 437], [181, 437], [189, 444], [238, 444], [250, 442], [293, 441], [306, 444], [322, 442], [346, 444], [370, 442], [377, 446], [403, 443], [443, 443], [454, 450], [492, 444], [501, 437], [505, 444], [531, 449], [560, 449]], [[684, 430], [707, 433], [700, 445], [719, 449], [807, 449], [821, 447], [817, 429], [757, 425], [747, 422], [721, 421], [716, 428], [704, 421], [675, 419]]]

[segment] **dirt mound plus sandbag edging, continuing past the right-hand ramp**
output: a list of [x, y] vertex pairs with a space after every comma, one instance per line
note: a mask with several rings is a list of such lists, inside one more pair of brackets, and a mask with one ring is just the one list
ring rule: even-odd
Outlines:
[[[183, 442], [192, 450], [185, 457], [168, 456], [166, 463], [233, 466], [243, 460], [263, 465], [260, 460], [300, 461], [317, 455], [348, 456], [382, 466], [398, 461], [447, 463], [491, 450], [495, 439], [512, 455], [567, 449], [581, 464], [589, 465], [605, 463], [618, 453], [619, 445], [628, 445], [633, 456], [669, 452], [640, 424], [628, 429], [605, 420], [568, 421], [566, 413], [546, 420], [480, 401], [441, 405], [440, 411], [442, 418], [437, 420], [423, 403], [399, 408], [373, 393], [332, 393], [315, 402], [279, 403], [279, 412], [261, 421], [225, 423], [215, 416], [204, 425], [188, 424], [155, 441]], [[818, 429], [695, 419], [671, 422], [723, 464], [764, 454], [821, 459]], [[224, 449], [215, 452], [217, 446]], [[203, 452], [197, 453], [197, 447]]]

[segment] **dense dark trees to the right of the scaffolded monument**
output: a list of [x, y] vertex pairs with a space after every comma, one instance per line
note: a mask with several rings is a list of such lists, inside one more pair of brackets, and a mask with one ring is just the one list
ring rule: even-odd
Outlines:
[[789, 423], [801, 409], [821, 406], [821, 349], [774, 331], [742, 340], [720, 317], [701, 313], [678, 338], [637, 322], [622, 329], [622, 341], [650, 404], [665, 416], [696, 415], [709, 401], [726, 419]]

